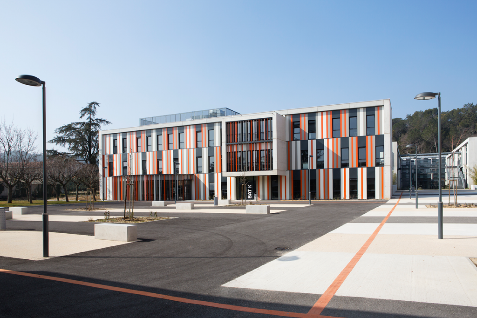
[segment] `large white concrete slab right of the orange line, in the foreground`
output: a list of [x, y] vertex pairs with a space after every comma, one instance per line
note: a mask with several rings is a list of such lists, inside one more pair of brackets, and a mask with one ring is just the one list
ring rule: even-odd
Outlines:
[[477, 269], [467, 257], [364, 254], [336, 296], [477, 306]]

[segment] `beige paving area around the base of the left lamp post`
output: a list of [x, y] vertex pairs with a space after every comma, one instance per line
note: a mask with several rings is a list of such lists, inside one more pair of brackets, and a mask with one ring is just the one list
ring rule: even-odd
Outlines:
[[[94, 236], [50, 232], [50, 256], [65, 256], [131, 242], [95, 240]], [[1, 231], [0, 256], [42, 260], [40, 231]]]

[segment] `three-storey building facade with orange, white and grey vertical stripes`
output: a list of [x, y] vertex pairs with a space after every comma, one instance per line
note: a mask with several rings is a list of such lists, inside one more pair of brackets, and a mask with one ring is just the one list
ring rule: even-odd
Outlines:
[[258, 200], [389, 198], [389, 101], [339, 106], [100, 132], [101, 195], [123, 200], [130, 179], [138, 200], [176, 182], [182, 199], [240, 199], [243, 174]]

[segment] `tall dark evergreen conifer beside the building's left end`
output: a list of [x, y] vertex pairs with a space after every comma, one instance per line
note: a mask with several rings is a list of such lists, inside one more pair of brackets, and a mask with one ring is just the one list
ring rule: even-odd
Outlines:
[[96, 118], [99, 103], [91, 102], [80, 111], [84, 122], [69, 123], [55, 130], [57, 135], [49, 143], [66, 146], [70, 154], [82, 158], [87, 164], [98, 163], [98, 131], [101, 125], [109, 125], [105, 119]]

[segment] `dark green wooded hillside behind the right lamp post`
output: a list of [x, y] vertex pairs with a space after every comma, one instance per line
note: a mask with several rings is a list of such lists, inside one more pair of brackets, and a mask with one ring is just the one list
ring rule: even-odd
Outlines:
[[[477, 136], [477, 105], [468, 103], [442, 112], [441, 125], [442, 152], [452, 151], [468, 137]], [[393, 118], [393, 141], [401, 154], [415, 153], [414, 148], [405, 148], [406, 144], [417, 145], [419, 154], [437, 153], [437, 108]]]

